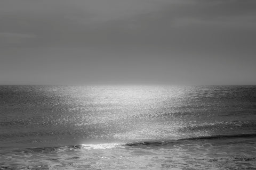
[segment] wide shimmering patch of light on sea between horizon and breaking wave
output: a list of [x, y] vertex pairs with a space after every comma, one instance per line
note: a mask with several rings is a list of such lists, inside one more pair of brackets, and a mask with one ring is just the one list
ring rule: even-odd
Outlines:
[[179, 112], [177, 107], [184, 104], [184, 87], [91, 86], [71, 91], [81, 111], [75, 125], [95, 126], [101, 132], [92, 134], [93, 138], [139, 141], [180, 136], [176, 129], [184, 122], [170, 115]]

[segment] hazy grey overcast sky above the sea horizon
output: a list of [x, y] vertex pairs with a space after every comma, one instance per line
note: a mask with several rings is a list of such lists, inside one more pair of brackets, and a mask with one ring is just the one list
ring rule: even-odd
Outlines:
[[256, 84], [255, 0], [1, 0], [0, 84]]

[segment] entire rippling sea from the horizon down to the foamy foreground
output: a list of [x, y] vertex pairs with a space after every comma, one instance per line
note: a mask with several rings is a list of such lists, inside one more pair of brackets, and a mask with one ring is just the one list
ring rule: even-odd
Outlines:
[[0, 169], [256, 169], [256, 86], [0, 86]]

